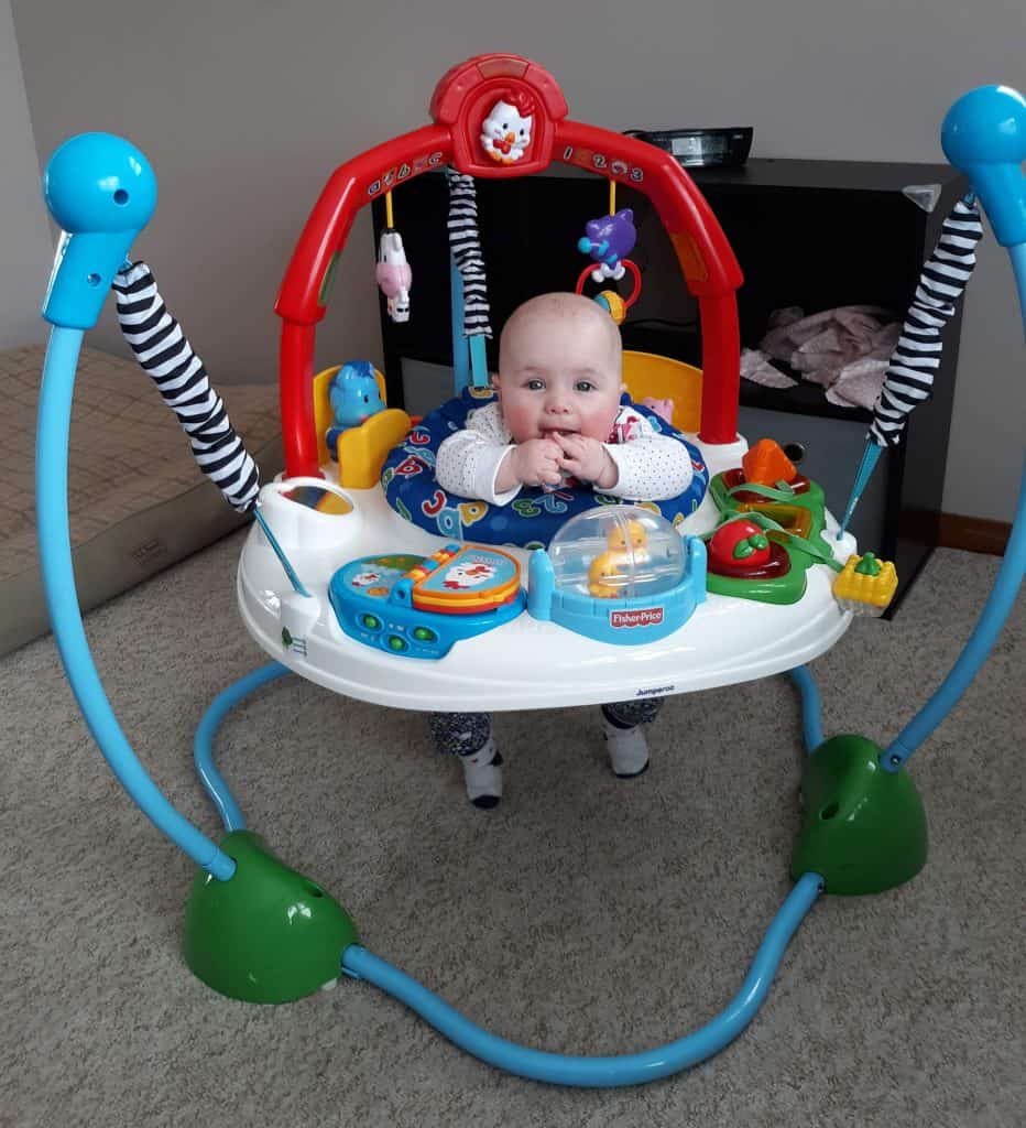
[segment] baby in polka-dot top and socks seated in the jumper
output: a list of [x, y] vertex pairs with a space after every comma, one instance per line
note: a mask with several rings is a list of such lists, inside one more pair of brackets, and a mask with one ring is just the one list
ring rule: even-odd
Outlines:
[[[608, 311], [573, 293], [546, 293], [520, 306], [498, 345], [497, 399], [468, 416], [439, 448], [435, 477], [449, 493], [494, 505], [523, 486], [576, 483], [630, 501], [660, 501], [691, 483], [683, 443], [660, 434], [620, 404], [620, 333]], [[603, 705], [603, 734], [621, 778], [648, 767], [640, 725], [660, 698]], [[502, 757], [487, 713], [433, 713], [439, 751], [461, 758], [475, 807], [502, 797]]]

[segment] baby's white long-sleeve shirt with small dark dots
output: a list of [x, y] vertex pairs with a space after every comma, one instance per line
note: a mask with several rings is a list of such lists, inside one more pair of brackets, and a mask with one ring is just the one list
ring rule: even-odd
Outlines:
[[[691, 456], [678, 439], [660, 434], [640, 412], [620, 408], [611, 441], [603, 443], [617, 465], [618, 478], [601, 493], [628, 501], [663, 501], [682, 494], [691, 484]], [[497, 402], [471, 411], [463, 430], [439, 447], [435, 478], [446, 493], [476, 497], [493, 505], [508, 504], [520, 485], [495, 492], [498, 468], [515, 448]]]

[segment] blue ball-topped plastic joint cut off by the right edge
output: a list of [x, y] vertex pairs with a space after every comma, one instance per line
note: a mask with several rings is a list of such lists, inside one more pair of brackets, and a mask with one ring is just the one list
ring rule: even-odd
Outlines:
[[1002, 247], [1026, 243], [1026, 99], [1010, 86], [964, 94], [940, 127], [944, 155], [968, 177]]

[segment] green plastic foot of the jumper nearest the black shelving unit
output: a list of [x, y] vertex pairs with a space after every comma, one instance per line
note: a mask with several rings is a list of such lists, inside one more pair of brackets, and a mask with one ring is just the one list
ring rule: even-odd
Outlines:
[[904, 768], [885, 772], [865, 737], [832, 737], [805, 761], [805, 812], [791, 876], [817, 873], [825, 892], [878, 893], [927, 861], [922, 800]]

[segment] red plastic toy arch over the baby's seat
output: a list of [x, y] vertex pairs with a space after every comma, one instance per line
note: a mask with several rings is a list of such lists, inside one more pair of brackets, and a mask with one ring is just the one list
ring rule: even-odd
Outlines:
[[[527, 92], [534, 105], [531, 142], [515, 165], [490, 161], [478, 135], [504, 91]], [[382, 192], [432, 168], [452, 165], [486, 178], [542, 171], [552, 160], [587, 168], [643, 192], [653, 203], [698, 299], [702, 331], [704, 442], [736, 439], [741, 340], [736, 290], [743, 279], [731, 245], [690, 176], [666, 152], [609, 130], [566, 120], [556, 80], [519, 55], [479, 55], [453, 67], [431, 99], [435, 124], [370, 149], [339, 166], [303, 227], [278, 291], [281, 411], [285, 473], [317, 476], [313, 426], [313, 342], [325, 316], [335, 256], [361, 208]]]

